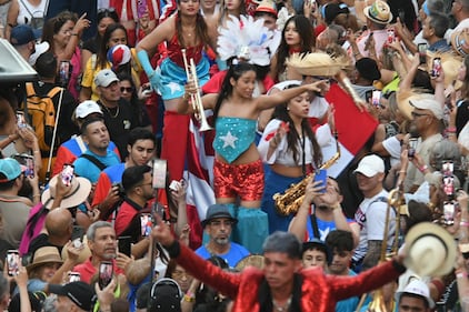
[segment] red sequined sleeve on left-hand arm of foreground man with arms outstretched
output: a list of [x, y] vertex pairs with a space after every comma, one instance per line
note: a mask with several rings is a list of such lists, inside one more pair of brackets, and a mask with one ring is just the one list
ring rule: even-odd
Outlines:
[[230, 273], [213, 265], [197, 255], [188, 246], [180, 244], [181, 252], [176, 258], [178, 264], [188, 270], [192, 276], [219, 290], [221, 293], [234, 299], [241, 283], [241, 274]]

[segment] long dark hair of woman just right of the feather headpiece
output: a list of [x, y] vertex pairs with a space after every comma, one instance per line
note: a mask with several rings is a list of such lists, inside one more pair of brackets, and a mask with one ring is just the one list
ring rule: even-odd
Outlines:
[[300, 53], [311, 52], [311, 50], [316, 47], [315, 29], [312, 28], [312, 24], [308, 20], [308, 18], [306, 18], [305, 16], [292, 16], [291, 18], [289, 18], [285, 23], [285, 28], [281, 33], [280, 46], [277, 50], [277, 67], [275, 78], [277, 78], [281, 72], [285, 71], [285, 62], [290, 54], [290, 47], [287, 44], [287, 40], [285, 39], [285, 33], [290, 22], [295, 22], [295, 27], [297, 28], [298, 33], [301, 38]]

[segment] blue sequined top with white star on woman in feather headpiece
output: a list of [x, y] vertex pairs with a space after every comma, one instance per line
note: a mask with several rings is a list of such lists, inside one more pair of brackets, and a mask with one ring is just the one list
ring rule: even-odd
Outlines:
[[257, 121], [246, 118], [218, 117], [213, 149], [229, 163], [255, 142]]

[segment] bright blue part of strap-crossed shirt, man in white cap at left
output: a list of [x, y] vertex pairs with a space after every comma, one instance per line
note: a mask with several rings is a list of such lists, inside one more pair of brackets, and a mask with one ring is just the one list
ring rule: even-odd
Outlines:
[[[102, 164], [106, 167], [110, 167], [113, 164], [120, 163], [119, 157], [113, 152], [108, 150], [106, 155], [98, 155], [90, 150], [87, 150], [84, 154], [89, 154], [98, 159]], [[78, 158], [74, 162], [74, 173], [79, 177], [87, 178], [90, 180], [91, 183], [96, 183], [98, 181], [99, 174], [101, 170], [91, 161], [84, 158]]]

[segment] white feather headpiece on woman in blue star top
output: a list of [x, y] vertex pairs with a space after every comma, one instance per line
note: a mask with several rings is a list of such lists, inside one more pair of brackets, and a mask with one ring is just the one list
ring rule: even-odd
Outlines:
[[232, 57], [258, 64], [270, 64], [271, 54], [277, 50], [278, 40], [273, 32], [263, 26], [263, 19], [230, 16], [224, 28], [219, 29], [217, 52], [226, 61]]

